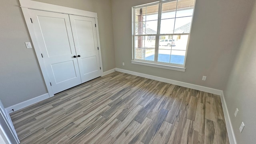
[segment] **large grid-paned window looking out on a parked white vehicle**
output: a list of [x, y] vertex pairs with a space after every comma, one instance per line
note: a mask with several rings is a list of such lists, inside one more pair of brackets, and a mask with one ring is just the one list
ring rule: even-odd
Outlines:
[[184, 68], [194, 3], [168, 0], [133, 7], [133, 62]]

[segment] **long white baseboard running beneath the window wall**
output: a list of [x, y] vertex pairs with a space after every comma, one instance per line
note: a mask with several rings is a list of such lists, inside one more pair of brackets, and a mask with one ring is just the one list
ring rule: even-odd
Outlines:
[[167, 79], [167, 78], [161, 78], [161, 77], [158, 77], [158, 76], [142, 74], [142, 73], [139, 73], [139, 72], [133, 72], [133, 71], [124, 70], [124, 69], [120, 69], [120, 68], [116, 68], [116, 71], [123, 72], [123, 73], [126, 73], [126, 74], [132, 74], [132, 75], [135, 75], [135, 76], [141, 76], [143, 78], [149, 78], [149, 79], [152, 79], [152, 80], [158, 80], [160, 82], [166, 82], [166, 83], [169, 83], [169, 84], [175, 84], [177, 86], [192, 88], [194, 90], [209, 92], [211, 94], [221, 95], [221, 93], [222, 93], [222, 90], [217, 90], [217, 89], [214, 89], [214, 88], [208, 88], [208, 87], [199, 86], [199, 85], [196, 85], [196, 84], [189, 84], [189, 83], [186, 83], [186, 82], [180, 82], [180, 81], [177, 81], [177, 80], [171, 80], [171, 79]]

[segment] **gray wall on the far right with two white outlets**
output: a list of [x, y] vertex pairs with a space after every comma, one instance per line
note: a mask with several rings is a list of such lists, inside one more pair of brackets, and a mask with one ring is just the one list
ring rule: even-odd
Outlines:
[[[242, 38], [224, 96], [238, 144], [256, 142], [256, 4]], [[237, 116], [234, 112], [238, 108]], [[239, 126], [245, 124], [242, 133]]]

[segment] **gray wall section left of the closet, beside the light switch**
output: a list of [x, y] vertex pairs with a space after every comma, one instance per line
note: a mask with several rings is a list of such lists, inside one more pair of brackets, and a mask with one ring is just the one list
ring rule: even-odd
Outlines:
[[0, 4], [0, 100], [4, 107], [46, 94], [42, 73], [18, 0]]

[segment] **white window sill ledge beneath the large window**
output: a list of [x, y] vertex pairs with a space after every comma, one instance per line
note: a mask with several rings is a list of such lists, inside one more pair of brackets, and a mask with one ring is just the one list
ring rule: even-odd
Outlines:
[[152, 66], [152, 67], [164, 68], [164, 69], [168, 69], [168, 70], [177, 70], [180, 72], [185, 72], [185, 70], [186, 70], [186, 68], [182, 68], [182, 67], [178, 67], [178, 66], [169, 66], [169, 65], [164, 65], [164, 64], [152, 64], [149, 62], [140, 62], [140, 61], [135, 61], [135, 60], [132, 60], [132, 64], [139, 64], [139, 65], [143, 65], [143, 66]]

